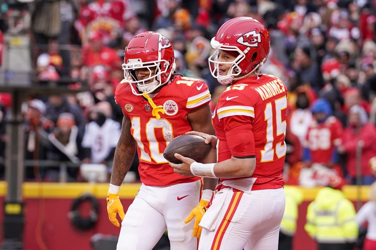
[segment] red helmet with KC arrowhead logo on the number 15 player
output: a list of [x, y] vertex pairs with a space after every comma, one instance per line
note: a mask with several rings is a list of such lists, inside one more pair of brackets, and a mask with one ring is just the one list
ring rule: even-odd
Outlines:
[[[215, 53], [209, 57], [209, 64], [214, 63], [210, 71], [221, 84], [229, 84], [234, 79], [245, 78], [265, 63], [270, 49], [269, 32], [256, 19], [241, 16], [225, 22], [211, 40]], [[236, 52], [232, 62], [218, 61], [219, 50]], [[227, 75], [219, 74], [219, 63], [232, 64]], [[246, 74], [237, 77], [240, 74]]]

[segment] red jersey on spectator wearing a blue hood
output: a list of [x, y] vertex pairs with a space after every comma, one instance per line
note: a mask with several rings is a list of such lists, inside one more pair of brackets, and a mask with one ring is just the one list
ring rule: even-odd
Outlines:
[[328, 117], [323, 123], [312, 120], [308, 127], [305, 147], [311, 151], [312, 163], [331, 162], [334, 147], [340, 144], [343, 128], [334, 116]]

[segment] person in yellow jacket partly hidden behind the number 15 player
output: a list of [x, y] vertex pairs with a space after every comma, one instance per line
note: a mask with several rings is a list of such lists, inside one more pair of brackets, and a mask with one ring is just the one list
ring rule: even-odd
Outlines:
[[293, 236], [296, 232], [296, 220], [298, 219], [298, 205], [303, 201], [303, 192], [294, 186], [284, 186], [285, 213], [279, 229], [278, 250], [291, 250]]

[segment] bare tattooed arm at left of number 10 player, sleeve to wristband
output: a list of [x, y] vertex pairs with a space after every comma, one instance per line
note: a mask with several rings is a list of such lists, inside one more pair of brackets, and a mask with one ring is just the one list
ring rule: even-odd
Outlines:
[[124, 115], [111, 173], [111, 184], [116, 186], [120, 186], [123, 183], [136, 153], [136, 141], [130, 134], [131, 125], [129, 117]]

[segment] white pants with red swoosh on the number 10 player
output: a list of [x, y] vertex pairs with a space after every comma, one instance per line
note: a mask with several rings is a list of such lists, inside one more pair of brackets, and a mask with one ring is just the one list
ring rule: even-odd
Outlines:
[[201, 186], [201, 180], [167, 187], [141, 184], [121, 222], [117, 250], [151, 250], [166, 228], [171, 250], [197, 250], [194, 220], [184, 220], [199, 204]]

